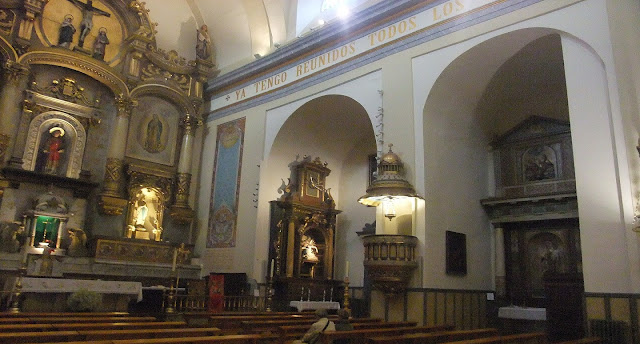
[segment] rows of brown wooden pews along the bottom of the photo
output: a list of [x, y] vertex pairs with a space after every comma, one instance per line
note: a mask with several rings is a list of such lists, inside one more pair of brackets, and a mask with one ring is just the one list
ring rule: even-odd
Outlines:
[[[0, 325], [0, 343], [65, 344], [169, 344], [169, 343], [286, 343], [301, 335], [314, 321], [312, 315], [299, 313], [197, 314], [206, 316], [207, 326], [187, 328], [186, 322], [157, 322], [153, 317], [126, 314], [38, 314], [11, 315], [14, 323]], [[90, 320], [87, 320], [90, 319]], [[109, 319], [114, 322], [96, 322]], [[65, 323], [72, 321], [72, 323]], [[6, 322], [9, 322], [7, 320]], [[327, 332], [320, 343], [347, 339], [364, 343], [455, 343], [455, 344], [544, 344], [544, 333], [499, 336], [496, 329], [454, 331], [451, 326], [416, 326], [415, 322], [382, 322], [381, 319], [353, 319], [353, 331]], [[229, 334], [229, 331], [240, 332]], [[457, 342], [456, 342], [457, 341]], [[599, 343], [583, 339], [568, 343]]]

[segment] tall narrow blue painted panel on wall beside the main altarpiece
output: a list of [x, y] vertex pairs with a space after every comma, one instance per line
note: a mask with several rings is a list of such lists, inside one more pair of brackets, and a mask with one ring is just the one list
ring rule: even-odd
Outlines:
[[234, 247], [245, 118], [218, 125], [207, 248]]

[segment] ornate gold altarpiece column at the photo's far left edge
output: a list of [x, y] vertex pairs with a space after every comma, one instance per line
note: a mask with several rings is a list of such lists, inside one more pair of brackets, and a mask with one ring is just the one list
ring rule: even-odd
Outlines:
[[3, 86], [0, 92], [0, 164], [9, 159], [15, 145], [20, 112], [22, 110], [23, 93], [27, 89], [30, 70], [28, 66], [7, 61], [3, 66]]

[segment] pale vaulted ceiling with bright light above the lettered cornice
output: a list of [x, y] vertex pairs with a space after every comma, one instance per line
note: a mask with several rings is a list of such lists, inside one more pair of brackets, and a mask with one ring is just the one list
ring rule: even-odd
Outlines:
[[345, 20], [381, 0], [145, 0], [158, 23], [158, 47], [195, 59], [196, 30], [206, 24], [222, 73], [308, 33], [320, 20]]

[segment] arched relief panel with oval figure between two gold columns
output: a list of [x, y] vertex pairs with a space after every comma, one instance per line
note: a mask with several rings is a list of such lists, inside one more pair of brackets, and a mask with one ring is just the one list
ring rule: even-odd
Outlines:
[[173, 166], [179, 118], [172, 103], [158, 97], [140, 97], [129, 122], [127, 156]]

